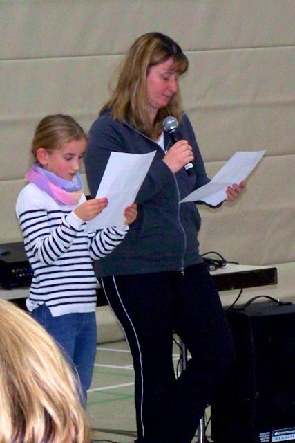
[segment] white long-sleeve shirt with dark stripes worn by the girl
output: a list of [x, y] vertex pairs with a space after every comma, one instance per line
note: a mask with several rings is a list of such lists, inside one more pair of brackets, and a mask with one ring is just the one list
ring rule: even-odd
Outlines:
[[[82, 195], [78, 204], [85, 201]], [[29, 183], [17, 199], [17, 217], [33, 276], [29, 311], [46, 303], [53, 316], [95, 311], [93, 260], [122, 242], [128, 226], [87, 232], [73, 210]]]

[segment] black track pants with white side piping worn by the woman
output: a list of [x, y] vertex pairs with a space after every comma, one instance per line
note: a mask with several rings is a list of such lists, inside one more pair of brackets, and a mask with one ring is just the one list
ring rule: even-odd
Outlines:
[[[124, 328], [135, 369], [137, 442], [190, 443], [205, 407], [234, 360], [231, 331], [204, 264], [102, 278]], [[175, 379], [172, 336], [192, 358]]]

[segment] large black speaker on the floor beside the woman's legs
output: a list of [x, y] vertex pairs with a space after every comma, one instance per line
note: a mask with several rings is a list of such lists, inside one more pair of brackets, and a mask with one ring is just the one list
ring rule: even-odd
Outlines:
[[236, 362], [211, 403], [215, 443], [295, 442], [295, 305], [227, 311]]

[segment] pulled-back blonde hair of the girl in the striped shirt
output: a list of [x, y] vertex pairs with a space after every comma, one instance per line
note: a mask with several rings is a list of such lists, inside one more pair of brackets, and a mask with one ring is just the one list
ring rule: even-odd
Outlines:
[[37, 150], [43, 147], [46, 150], [57, 150], [73, 140], [87, 140], [84, 129], [73, 117], [63, 114], [46, 116], [37, 125], [32, 139], [32, 155], [37, 161]]

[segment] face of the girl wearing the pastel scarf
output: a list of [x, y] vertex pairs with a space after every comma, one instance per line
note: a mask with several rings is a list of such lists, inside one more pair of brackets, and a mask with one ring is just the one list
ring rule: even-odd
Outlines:
[[53, 172], [61, 179], [72, 181], [79, 171], [86, 145], [86, 140], [81, 138], [70, 141], [57, 150], [48, 151], [40, 147], [37, 150], [37, 160], [44, 169]]

